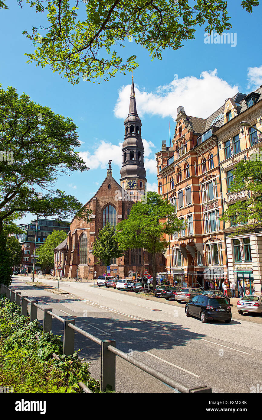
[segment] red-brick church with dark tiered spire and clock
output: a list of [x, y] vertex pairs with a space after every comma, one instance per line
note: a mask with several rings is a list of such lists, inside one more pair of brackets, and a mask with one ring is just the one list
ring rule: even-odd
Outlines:
[[[73, 218], [67, 240], [54, 249], [54, 275], [57, 267], [62, 267], [62, 276], [93, 279], [106, 273], [106, 266], [98, 262], [92, 253], [98, 231], [106, 225], [116, 225], [127, 218], [132, 205], [143, 198], [146, 191], [146, 170], [144, 168], [144, 147], [141, 137], [141, 120], [138, 117], [135, 101], [134, 81], [132, 78], [130, 106], [124, 121], [124, 142], [122, 147], [122, 168], [120, 184], [113, 178], [111, 161], [106, 178], [98, 191], [85, 207], [92, 211], [90, 222]], [[129, 277], [130, 273], [143, 273], [148, 270], [152, 275], [151, 254], [143, 248], [130, 249], [124, 256], [111, 260], [111, 275], [119, 278]], [[157, 256], [157, 271], [165, 271], [165, 257]], [[132, 274], [131, 274], [132, 276]]]

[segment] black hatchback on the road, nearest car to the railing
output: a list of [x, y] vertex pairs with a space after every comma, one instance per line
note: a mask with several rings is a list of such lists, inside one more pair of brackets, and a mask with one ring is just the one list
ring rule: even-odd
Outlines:
[[224, 320], [229, 323], [232, 318], [231, 308], [220, 294], [198, 294], [185, 304], [185, 315], [196, 316], [203, 323], [209, 320]]

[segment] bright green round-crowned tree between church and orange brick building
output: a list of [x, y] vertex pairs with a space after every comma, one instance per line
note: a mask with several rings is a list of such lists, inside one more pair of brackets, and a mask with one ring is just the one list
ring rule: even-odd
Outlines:
[[183, 222], [174, 207], [156, 192], [147, 193], [147, 202], [136, 202], [127, 219], [116, 226], [119, 248], [144, 248], [152, 255], [153, 287], [156, 287], [156, 255], [164, 253], [169, 242], [167, 235], [180, 231]]

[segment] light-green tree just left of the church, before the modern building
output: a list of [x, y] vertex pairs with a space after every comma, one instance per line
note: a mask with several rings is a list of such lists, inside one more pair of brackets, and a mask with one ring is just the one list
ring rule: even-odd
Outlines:
[[54, 249], [61, 244], [67, 238], [65, 231], [53, 231], [45, 239], [45, 243], [42, 244], [39, 248], [36, 249], [37, 255], [39, 258], [37, 262], [41, 265], [42, 268], [48, 267], [53, 268], [54, 266]]

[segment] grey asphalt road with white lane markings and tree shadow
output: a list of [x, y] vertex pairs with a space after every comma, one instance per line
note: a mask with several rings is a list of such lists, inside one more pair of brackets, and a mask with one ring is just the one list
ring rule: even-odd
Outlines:
[[[187, 386], [210, 386], [212, 392], [250, 392], [262, 385], [262, 328], [259, 323], [232, 319], [201, 323], [185, 316], [184, 304], [116, 291], [90, 283], [61, 282], [65, 294], [52, 293], [57, 281], [38, 288], [25, 284], [28, 277], [13, 276], [12, 286], [37, 297], [53, 312]], [[38, 311], [42, 315], [42, 311]], [[39, 316], [39, 318], [40, 318]], [[53, 320], [53, 333], [63, 334], [62, 323]], [[75, 334], [75, 349], [90, 361], [93, 377], [100, 376], [99, 346]], [[116, 391], [175, 392], [172, 388], [116, 357]]]

